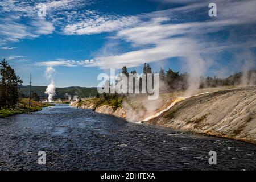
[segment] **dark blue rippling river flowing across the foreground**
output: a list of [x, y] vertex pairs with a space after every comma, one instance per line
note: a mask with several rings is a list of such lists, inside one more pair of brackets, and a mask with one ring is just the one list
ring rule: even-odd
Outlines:
[[[209, 151], [217, 164], [209, 165]], [[46, 152], [46, 165], [38, 152]], [[0, 169], [256, 169], [256, 145], [53, 106], [0, 119]]]

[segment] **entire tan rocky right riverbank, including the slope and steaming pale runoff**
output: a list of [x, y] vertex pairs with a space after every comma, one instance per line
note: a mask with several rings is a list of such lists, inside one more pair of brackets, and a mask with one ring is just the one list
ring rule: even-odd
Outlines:
[[[117, 109], [113, 109], [111, 105], [97, 105], [96, 98], [83, 100], [80, 106], [78, 102], [72, 105], [134, 122], [150, 117], [143, 122], [146, 125], [256, 143], [255, 86], [200, 89], [193, 93], [195, 96], [181, 97], [184, 94], [162, 94], [155, 101], [148, 101], [143, 96], [127, 97], [123, 100], [122, 107]], [[166, 110], [168, 107], [170, 109]], [[159, 111], [163, 113], [154, 117]]]

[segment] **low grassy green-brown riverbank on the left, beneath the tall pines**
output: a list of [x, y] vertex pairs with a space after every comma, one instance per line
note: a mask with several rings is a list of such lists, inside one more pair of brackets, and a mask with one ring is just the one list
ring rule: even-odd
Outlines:
[[30, 108], [28, 107], [28, 98], [20, 98], [18, 106], [14, 109], [2, 109], [0, 110], [0, 118], [9, 117], [15, 114], [30, 113], [42, 110], [43, 107], [53, 106], [52, 104], [31, 101]]

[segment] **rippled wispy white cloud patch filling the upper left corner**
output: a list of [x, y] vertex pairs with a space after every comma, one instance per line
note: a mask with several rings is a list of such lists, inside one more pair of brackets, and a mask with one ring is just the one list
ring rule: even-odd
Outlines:
[[[47, 17], [38, 17], [38, 5], [47, 7]], [[51, 34], [56, 26], [60, 26], [61, 16], [69, 14], [69, 10], [91, 4], [92, 1], [9, 1], [0, 2], [0, 45], [18, 42], [20, 39], [37, 38], [42, 34]], [[59, 24], [58, 24], [59, 23]], [[64, 23], [66, 24], [66, 23]]]

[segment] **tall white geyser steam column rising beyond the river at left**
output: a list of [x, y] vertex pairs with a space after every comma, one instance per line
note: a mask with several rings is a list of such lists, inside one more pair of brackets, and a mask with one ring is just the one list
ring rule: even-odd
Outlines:
[[48, 94], [48, 102], [52, 102], [53, 96], [55, 96], [55, 84], [53, 81], [53, 73], [55, 73], [55, 69], [52, 67], [47, 67], [46, 68], [46, 78], [47, 80], [51, 81], [51, 83], [47, 86], [46, 91], [44, 93]]

